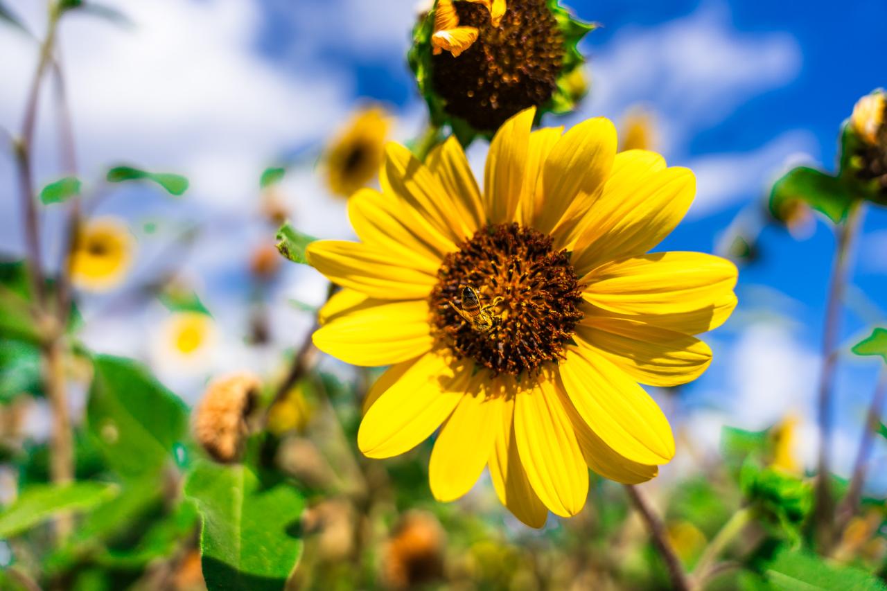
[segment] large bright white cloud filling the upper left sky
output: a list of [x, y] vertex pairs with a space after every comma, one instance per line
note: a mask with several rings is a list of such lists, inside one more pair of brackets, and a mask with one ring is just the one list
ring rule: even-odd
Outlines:
[[[24, 0], [13, 3], [27, 11]], [[109, 3], [110, 4], [110, 3]], [[84, 175], [108, 162], [176, 169], [192, 198], [222, 207], [253, 198], [263, 167], [287, 146], [317, 142], [347, 112], [349, 83], [274, 67], [255, 51], [261, 6], [249, 0], [117, 0], [132, 29], [88, 16], [62, 28]], [[0, 35], [0, 124], [15, 129], [34, 48]], [[30, 59], [29, 59], [30, 58]], [[43, 121], [51, 122], [44, 110]], [[38, 166], [50, 172], [51, 138]]]

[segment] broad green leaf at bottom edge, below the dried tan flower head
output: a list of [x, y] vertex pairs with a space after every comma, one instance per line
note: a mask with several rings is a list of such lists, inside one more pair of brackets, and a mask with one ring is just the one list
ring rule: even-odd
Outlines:
[[304, 502], [286, 484], [263, 485], [249, 466], [195, 465], [184, 492], [198, 506], [200, 554], [210, 589], [279, 590], [302, 552]]

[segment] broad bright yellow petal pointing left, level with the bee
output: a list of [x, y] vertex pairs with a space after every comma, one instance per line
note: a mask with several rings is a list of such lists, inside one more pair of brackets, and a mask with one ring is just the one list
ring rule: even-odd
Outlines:
[[320, 351], [354, 366], [389, 366], [431, 350], [428, 301], [370, 300], [327, 322], [312, 337]]

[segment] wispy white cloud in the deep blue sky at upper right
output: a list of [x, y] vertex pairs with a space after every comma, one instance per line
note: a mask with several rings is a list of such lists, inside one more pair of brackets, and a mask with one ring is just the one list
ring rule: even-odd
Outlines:
[[717, 126], [744, 102], [793, 80], [801, 66], [797, 41], [783, 33], [741, 33], [725, 4], [652, 28], [624, 27], [593, 52], [593, 91], [576, 119], [605, 115], [620, 121], [629, 106], [656, 115], [659, 146], [699, 179], [691, 217], [756, 197], [790, 154], [817, 151], [815, 139], [788, 131], [751, 150], [689, 158], [690, 141]]

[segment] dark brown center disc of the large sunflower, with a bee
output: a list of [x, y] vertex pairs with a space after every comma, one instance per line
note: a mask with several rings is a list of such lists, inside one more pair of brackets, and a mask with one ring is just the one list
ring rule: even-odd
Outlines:
[[475, 232], [443, 259], [437, 278], [432, 332], [459, 359], [496, 374], [534, 374], [556, 363], [583, 316], [569, 253], [517, 224]]

